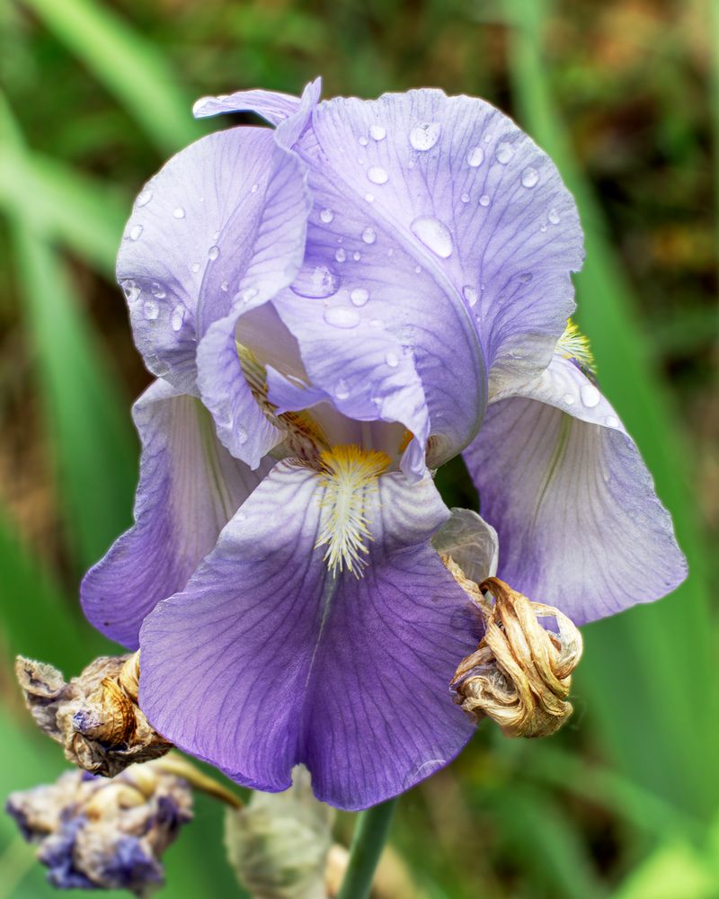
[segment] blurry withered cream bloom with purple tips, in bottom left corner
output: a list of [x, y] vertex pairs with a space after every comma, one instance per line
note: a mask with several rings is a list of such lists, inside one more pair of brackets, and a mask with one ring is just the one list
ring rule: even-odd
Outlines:
[[39, 844], [52, 886], [146, 896], [163, 883], [160, 859], [191, 820], [192, 794], [162, 762], [149, 762], [112, 780], [67, 771], [54, 784], [13, 793], [6, 809]]

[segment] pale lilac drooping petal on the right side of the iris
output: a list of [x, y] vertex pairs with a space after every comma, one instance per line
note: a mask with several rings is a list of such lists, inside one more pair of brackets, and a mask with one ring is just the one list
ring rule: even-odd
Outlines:
[[499, 574], [577, 624], [659, 599], [686, 577], [670, 516], [607, 400], [556, 355], [490, 405], [465, 453]]

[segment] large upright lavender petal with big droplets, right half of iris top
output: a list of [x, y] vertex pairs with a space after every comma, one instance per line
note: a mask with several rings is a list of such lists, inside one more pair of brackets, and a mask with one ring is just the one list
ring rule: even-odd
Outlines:
[[[305, 265], [327, 272], [315, 280], [322, 293], [300, 279], [297, 316], [320, 303], [343, 329], [333, 335], [343, 362], [321, 373], [321, 386], [331, 392], [348, 369], [345, 405], [355, 397], [361, 409], [375, 385], [357, 363], [364, 343], [351, 322], [388, 332], [422, 381], [439, 464], [481, 422], [483, 349], [491, 391], [550, 360], [573, 308], [570, 271], [581, 266], [573, 199], [502, 112], [439, 91], [324, 102], [297, 152], [315, 203]], [[293, 328], [303, 351], [314, 347], [312, 328]], [[398, 358], [393, 346], [386, 355]]]

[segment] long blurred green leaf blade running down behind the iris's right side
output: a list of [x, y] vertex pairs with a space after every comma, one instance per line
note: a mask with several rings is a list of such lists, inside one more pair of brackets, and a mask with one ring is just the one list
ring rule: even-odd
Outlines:
[[587, 260], [577, 277], [579, 320], [590, 335], [602, 387], [634, 434], [670, 508], [691, 573], [670, 599], [588, 628], [579, 679], [601, 714], [602, 736], [611, 741], [617, 764], [674, 801], [712, 814], [719, 801], [714, 764], [719, 678], [708, 565], [688, 474], [690, 450], [675, 432], [631, 290], [555, 113], [543, 62], [546, 2], [519, 0], [517, 7], [510, 70], [519, 110], [564, 174], [585, 229]]

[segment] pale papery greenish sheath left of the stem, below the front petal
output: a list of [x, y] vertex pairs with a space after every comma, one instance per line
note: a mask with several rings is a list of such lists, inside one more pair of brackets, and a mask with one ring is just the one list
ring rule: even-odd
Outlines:
[[333, 809], [313, 797], [304, 769], [285, 793], [254, 793], [248, 806], [226, 816], [237, 879], [253, 899], [326, 899], [332, 821]]

